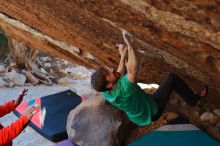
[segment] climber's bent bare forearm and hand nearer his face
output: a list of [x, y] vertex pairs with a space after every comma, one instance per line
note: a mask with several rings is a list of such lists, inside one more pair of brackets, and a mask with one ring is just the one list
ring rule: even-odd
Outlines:
[[125, 68], [125, 58], [126, 58], [126, 55], [127, 55], [127, 47], [124, 47], [122, 44], [119, 44], [118, 45], [118, 50], [119, 50], [119, 53], [120, 53], [120, 62], [119, 62], [119, 65], [118, 65], [118, 69], [117, 69], [117, 72], [120, 73], [120, 76], [124, 75], [125, 72], [126, 72], [126, 68]]

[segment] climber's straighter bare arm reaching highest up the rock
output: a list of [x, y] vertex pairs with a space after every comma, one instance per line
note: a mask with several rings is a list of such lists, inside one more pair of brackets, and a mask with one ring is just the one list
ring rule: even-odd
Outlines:
[[123, 38], [128, 48], [128, 62], [126, 65], [128, 80], [132, 83], [136, 83], [137, 73], [138, 73], [138, 59], [137, 59], [136, 51], [134, 50], [132, 44], [130, 43], [124, 32], [123, 32]]

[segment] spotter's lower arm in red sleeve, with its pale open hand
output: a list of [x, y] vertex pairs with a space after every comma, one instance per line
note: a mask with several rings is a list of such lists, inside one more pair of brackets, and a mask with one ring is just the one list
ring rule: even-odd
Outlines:
[[0, 145], [6, 144], [17, 137], [28, 124], [29, 120], [36, 113], [38, 107], [30, 107], [24, 115], [10, 126], [0, 129]]

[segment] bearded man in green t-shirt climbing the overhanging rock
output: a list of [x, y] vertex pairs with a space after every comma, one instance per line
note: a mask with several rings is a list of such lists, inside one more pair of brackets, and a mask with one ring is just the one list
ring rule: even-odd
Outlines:
[[108, 102], [123, 110], [133, 123], [145, 126], [159, 119], [173, 90], [192, 106], [206, 96], [206, 87], [203, 88], [202, 95], [194, 94], [186, 83], [173, 73], [165, 76], [154, 94], [145, 93], [137, 85], [136, 50], [126, 33], [123, 33], [123, 39], [127, 46], [119, 45], [121, 59], [117, 72], [107, 66], [100, 67], [92, 74], [91, 84], [96, 91], [103, 92]]

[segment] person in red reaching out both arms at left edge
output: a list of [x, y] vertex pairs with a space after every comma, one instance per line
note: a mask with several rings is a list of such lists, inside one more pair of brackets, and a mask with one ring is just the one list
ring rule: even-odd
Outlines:
[[[22, 102], [23, 97], [27, 95], [28, 90], [24, 89], [18, 96], [16, 101], [12, 100], [4, 105], [0, 106], [0, 116], [4, 116], [15, 108]], [[27, 126], [28, 122], [31, 120], [32, 116], [39, 110], [38, 106], [31, 106], [28, 108], [23, 116], [21, 116], [17, 121], [12, 123], [8, 127], [3, 127], [0, 124], [0, 145], [1, 146], [12, 146], [12, 140], [17, 137]]]

